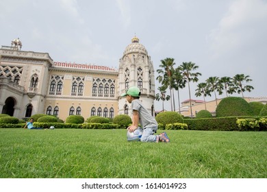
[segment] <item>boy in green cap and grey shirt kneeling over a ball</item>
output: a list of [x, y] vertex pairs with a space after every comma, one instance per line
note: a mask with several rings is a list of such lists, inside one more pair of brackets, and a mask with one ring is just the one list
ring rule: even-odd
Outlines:
[[159, 135], [155, 135], [157, 132], [157, 121], [151, 116], [150, 112], [144, 108], [143, 104], [139, 100], [141, 95], [140, 89], [136, 86], [131, 86], [126, 93], [120, 95], [120, 97], [126, 96], [127, 101], [131, 104], [133, 110], [132, 124], [127, 128], [129, 132], [134, 132], [138, 129], [138, 124], [142, 126], [142, 136], [140, 141], [142, 142], [170, 142], [166, 132]]

